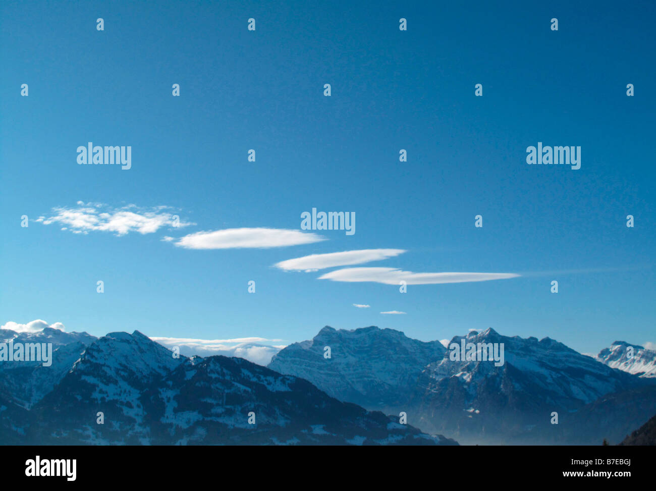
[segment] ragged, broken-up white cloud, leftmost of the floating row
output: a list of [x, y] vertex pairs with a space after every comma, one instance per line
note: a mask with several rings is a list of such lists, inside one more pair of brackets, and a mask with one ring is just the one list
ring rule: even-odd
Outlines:
[[123, 236], [129, 232], [152, 234], [163, 226], [184, 227], [195, 223], [179, 219], [174, 223], [176, 211], [168, 206], [138, 207], [126, 205], [110, 207], [103, 203], [77, 202], [74, 207], [54, 207], [52, 213], [35, 221], [45, 225], [59, 224], [62, 230], [73, 234], [88, 234], [92, 231], [113, 232]]

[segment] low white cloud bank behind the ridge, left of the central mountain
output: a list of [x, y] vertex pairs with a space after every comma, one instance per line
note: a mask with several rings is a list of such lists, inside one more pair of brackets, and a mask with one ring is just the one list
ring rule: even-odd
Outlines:
[[268, 365], [271, 358], [285, 345], [261, 345], [273, 343], [281, 339], [266, 339], [264, 337], [239, 337], [236, 339], [194, 339], [186, 337], [151, 337], [153, 341], [172, 349], [180, 347], [180, 353], [185, 356], [237, 356], [258, 365]]

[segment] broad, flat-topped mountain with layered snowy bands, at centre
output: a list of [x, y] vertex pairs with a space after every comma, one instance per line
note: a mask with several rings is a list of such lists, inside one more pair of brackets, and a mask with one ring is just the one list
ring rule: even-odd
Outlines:
[[[331, 358], [324, 358], [324, 347]], [[281, 350], [268, 368], [309, 380], [339, 400], [367, 409], [403, 409], [424, 366], [442, 358], [440, 341], [424, 342], [375, 326], [323, 328], [311, 341]]]

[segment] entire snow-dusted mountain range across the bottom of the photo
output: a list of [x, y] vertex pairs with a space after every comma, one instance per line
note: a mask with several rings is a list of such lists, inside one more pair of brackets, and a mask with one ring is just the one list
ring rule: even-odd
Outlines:
[[[51, 366], [0, 363], [0, 438], [14, 444], [599, 444], [656, 414], [655, 353], [623, 341], [595, 358], [487, 329], [451, 339], [475, 347], [454, 358], [400, 331], [326, 326], [264, 368], [176, 358], [138, 331], [0, 330], [9, 339], [54, 349]], [[503, 362], [481, 359], [485, 345]]]

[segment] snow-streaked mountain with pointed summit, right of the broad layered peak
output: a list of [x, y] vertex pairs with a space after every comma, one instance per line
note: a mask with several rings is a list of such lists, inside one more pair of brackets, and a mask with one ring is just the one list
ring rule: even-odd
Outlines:
[[[598, 442], [594, 426], [586, 435], [565, 431], [578, 424], [576, 413], [602, 396], [644, 385], [642, 379], [548, 337], [507, 337], [488, 329], [454, 337], [451, 343], [461, 345], [462, 340], [474, 343], [478, 352], [478, 343], [503, 343], [504, 364], [495, 366], [478, 357], [451, 360], [447, 351], [422, 374], [413, 398], [420, 421], [408, 421], [463, 442]], [[559, 415], [558, 425], [552, 424], [553, 412]], [[613, 417], [620, 421], [622, 415]]]

